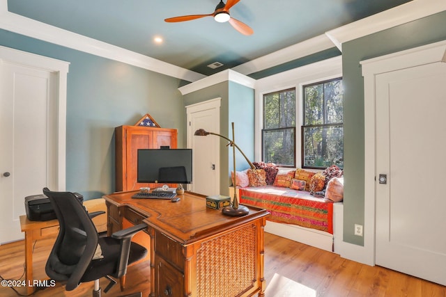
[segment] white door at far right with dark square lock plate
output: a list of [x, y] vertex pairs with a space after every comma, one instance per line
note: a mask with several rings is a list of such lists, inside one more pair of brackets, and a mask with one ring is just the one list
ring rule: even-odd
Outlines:
[[445, 112], [446, 63], [376, 77], [376, 264], [444, 285]]

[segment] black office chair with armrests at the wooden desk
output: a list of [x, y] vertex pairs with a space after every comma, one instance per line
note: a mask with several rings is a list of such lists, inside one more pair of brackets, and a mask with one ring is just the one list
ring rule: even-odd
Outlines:
[[[81, 282], [95, 281], [93, 297], [100, 297], [99, 279], [110, 280], [107, 292], [121, 278], [128, 264], [146, 257], [147, 250], [131, 242], [132, 236], [147, 225], [139, 224], [109, 237], [100, 237], [91, 218], [104, 211], [88, 214], [84, 206], [70, 192], [43, 189], [56, 212], [60, 230], [52, 248], [45, 271], [53, 280], [66, 282], [66, 290], [76, 289]], [[131, 296], [141, 296], [141, 294]]]

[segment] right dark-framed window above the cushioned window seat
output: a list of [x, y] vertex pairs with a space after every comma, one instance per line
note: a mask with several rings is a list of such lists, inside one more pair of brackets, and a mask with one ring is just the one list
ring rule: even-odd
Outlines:
[[302, 168], [344, 168], [342, 79], [303, 86]]

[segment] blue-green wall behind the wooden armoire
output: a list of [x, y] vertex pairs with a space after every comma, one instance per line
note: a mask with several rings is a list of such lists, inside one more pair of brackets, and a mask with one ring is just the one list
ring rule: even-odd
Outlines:
[[178, 129], [178, 147], [185, 147], [185, 111], [177, 89], [179, 79], [3, 30], [0, 45], [70, 62], [68, 191], [82, 193], [86, 200], [112, 193], [114, 127], [134, 125], [146, 113], [161, 127]]

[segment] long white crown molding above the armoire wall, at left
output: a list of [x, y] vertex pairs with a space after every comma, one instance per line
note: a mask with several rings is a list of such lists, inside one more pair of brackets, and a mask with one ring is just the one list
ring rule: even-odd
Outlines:
[[127, 63], [146, 70], [158, 72], [176, 77], [185, 81], [197, 81], [206, 77], [203, 74], [187, 70], [176, 65], [172, 65], [143, 54], [137, 54], [134, 51], [109, 45], [106, 42], [88, 38], [84, 35], [72, 33], [55, 26], [38, 22], [28, 17], [22, 17], [15, 13], [8, 12], [8, 3], [6, 0], [0, 0], [0, 29], [11, 31], [31, 38], [43, 40], [61, 45], [70, 49], [84, 51], [102, 58], [109, 58], [114, 61]]

